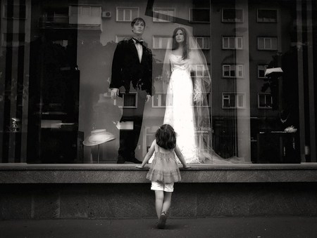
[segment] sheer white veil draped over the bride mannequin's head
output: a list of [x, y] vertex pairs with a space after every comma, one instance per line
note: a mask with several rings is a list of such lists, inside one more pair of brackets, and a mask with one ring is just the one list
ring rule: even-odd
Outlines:
[[[209, 111], [211, 104], [208, 100], [208, 95], [211, 93], [211, 77], [203, 51], [201, 51], [201, 48], [197, 43], [197, 40], [193, 37], [192, 32], [186, 28], [188, 27], [177, 27], [175, 31], [182, 29], [182, 31], [185, 31], [187, 35], [187, 58], [190, 62], [190, 70], [194, 86], [194, 127], [198, 157], [201, 163], [212, 163], [212, 160], [215, 157], [220, 157], [218, 154], [213, 152], [212, 149], [211, 114]], [[172, 36], [170, 39], [168, 39], [166, 54], [163, 62], [163, 71], [161, 75], [164, 93], [167, 91], [168, 81], [170, 80], [170, 54], [173, 52], [173, 50]], [[166, 107], [173, 107], [173, 105], [168, 105], [168, 102], [173, 102], [173, 100], [170, 100], [168, 97], [173, 97], [173, 95], [166, 95]]]

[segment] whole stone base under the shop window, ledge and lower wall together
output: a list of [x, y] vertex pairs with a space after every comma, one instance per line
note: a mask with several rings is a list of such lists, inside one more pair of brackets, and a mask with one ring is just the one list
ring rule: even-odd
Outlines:
[[[170, 216], [317, 216], [317, 166], [181, 168]], [[1, 165], [0, 220], [154, 218], [147, 168]]]

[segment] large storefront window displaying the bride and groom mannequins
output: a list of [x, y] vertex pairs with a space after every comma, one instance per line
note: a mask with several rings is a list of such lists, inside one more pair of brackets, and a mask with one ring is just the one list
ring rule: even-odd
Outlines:
[[135, 163], [165, 123], [189, 163], [316, 162], [316, 1], [0, 8], [1, 163]]

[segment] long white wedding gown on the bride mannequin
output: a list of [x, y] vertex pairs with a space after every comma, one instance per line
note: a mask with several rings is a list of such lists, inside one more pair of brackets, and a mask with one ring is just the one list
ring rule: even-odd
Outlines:
[[199, 163], [195, 140], [195, 119], [193, 108], [193, 83], [190, 76], [192, 62], [181, 55], [170, 53], [170, 80], [166, 95], [164, 124], [173, 126], [176, 141], [188, 164]]

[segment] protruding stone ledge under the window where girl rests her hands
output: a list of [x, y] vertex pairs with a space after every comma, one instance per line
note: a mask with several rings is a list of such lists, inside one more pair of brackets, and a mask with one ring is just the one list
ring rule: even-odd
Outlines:
[[[0, 164], [0, 183], [149, 183], [135, 164]], [[317, 182], [317, 164], [194, 164], [181, 183]]]

